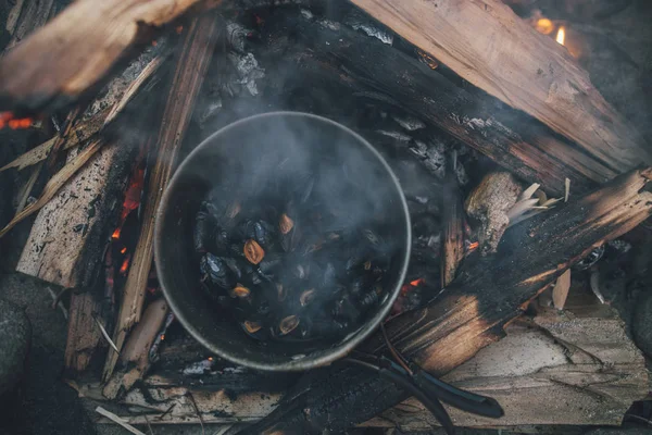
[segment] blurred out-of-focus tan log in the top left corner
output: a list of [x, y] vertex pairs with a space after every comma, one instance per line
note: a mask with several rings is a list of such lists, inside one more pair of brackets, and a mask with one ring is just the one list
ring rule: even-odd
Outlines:
[[84, 98], [152, 30], [222, 0], [75, 1], [0, 60], [0, 110], [47, 112]]

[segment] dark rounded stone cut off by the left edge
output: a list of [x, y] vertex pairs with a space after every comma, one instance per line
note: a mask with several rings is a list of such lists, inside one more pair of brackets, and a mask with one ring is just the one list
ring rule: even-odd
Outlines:
[[0, 299], [0, 394], [11, 389], [23, 375], [32, 326], [25, 312]]

